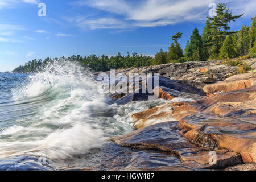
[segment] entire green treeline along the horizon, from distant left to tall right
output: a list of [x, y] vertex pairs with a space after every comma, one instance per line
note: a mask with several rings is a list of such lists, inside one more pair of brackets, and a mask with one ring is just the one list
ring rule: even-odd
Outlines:
[[[90, 55], [81, 57], [73, 55], [68, 57], [70, 61], [78, 61], [93, 71], [109, 71], [110, 69], [141, 67], [148, 65], [159, 65], [166, 63], [182, 63], [185, 61], [207, 61], [217, 59], [228, 59], [250, 55], [256, 57], [256, 16], [252, 18], [251, 27], [242, 26], [239, 31], [230, 31], [229, 23], [234, 22], [242, 15], [233, 15], [225, 3], [220, 3], [216, 9], [216, 16], [207, 17], [202, 35], [195, 28], [185, 49], [181, 48], [179, 39], [183, 35], [177, 32], [172, 36], [171, 46], [168, 51], [157, 52], [155, 57], [138, 55], [128, 52], [126, 56], [120, 52], [115, 56]], [[56, 59], [56, 58], [55, 58]], [[48, 62], [55, 59], [32, 60], [24, 66], [20, 66], [14, 72], [36, 72], [38, 68], [44, 67]]]

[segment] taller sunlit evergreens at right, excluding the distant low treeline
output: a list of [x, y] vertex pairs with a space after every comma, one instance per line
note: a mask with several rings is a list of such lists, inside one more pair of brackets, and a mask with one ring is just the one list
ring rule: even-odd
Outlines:
[[195, 28], [183, 51], [178, 43], [183, 34], [177, 32], [172, 36], [174, 42], [168, 52], [160, 49], [153, 64], [217, 60], [249, 54], [256, 57], [256, 16], [251, 19], [251, 27], [242, 26], [239, 31], [229, 31], [229, 23], [242, 15], [234, 16], [225, 3], [218, 4], [216, 16], [207, 17], [202, 35]]

